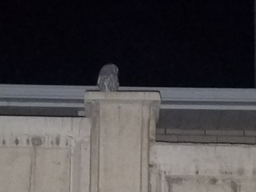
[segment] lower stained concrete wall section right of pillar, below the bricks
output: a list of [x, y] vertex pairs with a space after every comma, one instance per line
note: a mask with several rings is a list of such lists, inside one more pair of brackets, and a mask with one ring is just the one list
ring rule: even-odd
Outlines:
[[152, 192], [256, 191], [256, 146], [152, 143]]

